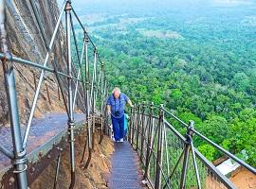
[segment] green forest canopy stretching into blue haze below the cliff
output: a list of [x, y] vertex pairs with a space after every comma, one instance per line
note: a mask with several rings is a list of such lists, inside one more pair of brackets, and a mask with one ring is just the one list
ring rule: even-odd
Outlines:
[[[194, 120], [195, 129], [256, 166], [254, 12], [246, 4], [87, 16], [113, 86]], [[195, 145], [210, 161], [221, 156]]]

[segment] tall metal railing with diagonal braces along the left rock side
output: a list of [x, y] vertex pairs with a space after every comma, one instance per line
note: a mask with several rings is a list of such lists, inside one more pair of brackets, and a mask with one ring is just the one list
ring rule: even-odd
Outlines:
[[[84, 163], [84, 168], [87, 168], [91, 156], [93, 147], [95, 144], [95, 131], [96, 131], [96, 104], [100, 103], [100, 114], [101, 114], [101, 138], [99, 142], [101, 143], [104, 133], [104, 101], [107, 95], [108, 82], [104, 74], [104, 65], [101, 61], [100, 55], [96, 48], [96, 45], [90, 39], [85, 28], [82, 26], [82, 22], [76, 14], [75, 10], [71, 6], [70, 0], [65, 0], [63, 7], [60, 11], [57, 23], [55, 25], [54, 32], [51, 36], [50, 43], [47, 42], [45, 29], [42, 23], [41, 15], [38, 12], [37, 6], [33, 0], [29, 0], [30, 6], [32, 8], [32, 13], [35, 15], [37, 25], [40, 28], [43, 41], [46, 45], [46, 58], [44, 63], [33, 62], [30, 60], [24, 60], [11, 55], [9, 51], [9, 45], [7, 43], [7, 32], [5, 26], [6, 19], [6, 4], [4, 0], [0, 0], [0, 44], [1, 52], [0, 59], [3, 66], [5, 74], [5, 86], [6, 93], [8, 97], [9, 104], [9, 118], [10, 118], [10, 129], [12, 137], [13, 151], [9, 151], [5, 146], [0, 146], [0, 152], [6, 155], [12, 163], [13, 173], [17, 176], [17, 187], [25, 189], [27, 188], [27, 140], [29, 136], [29, 130], [31, 128], [31, 123], [34, 117], [34, 112], [37, 107], [37, 101], [42, 90], [43, 82], [46, 73], [52, 73], [56, 78], [56, 83], [58, 85], [58, 94], [62, 95], [64, 101], [64, 109], [66, 111], [68, 121], [68, 143], [70, 148], [70, 169], [71, 169], [71, 180], [69, 188], [73, 188], [75, 185], [75, 146], [74, 146], [74, 129], [75, 129], [75, 119], [74, 111], [76, 107], [76, 101], [80, 99], [82, 106], [80, 109], [85, 114], [85, 128], [86, 128], [86, 138], [84, 143], [84, 151], [82, 153], [82, 162], [84, 160], [85, 151], [88, 150], [88, 157]], [[56, 62], [56, 60], [50, 60], [50, 56], [54, 53], [53, 48], [55, 42], [58, 40], [58, 32], [61, 31], [62, 17], [65, 14], [65, 37], [66, 37], [66, 64], [61, 64], [61, 62]], [[77, 20], [79, 25], [82, 27], [84, 38], [82, 43], [82, 51], [80, 52], [77, 43], [76, 31], [73, 24], [73, 17]], [[11, 37], [11, 36], [10, 36]], [[71, 40], [75, 43], [75, 49], [71, 47]], [[92, 66], [89, 63], [89, 48], [88, 45], [91, 44], [93, 48], [93, 61]], [[78, 66], [74, 64], [72, 55], [77, 57]], [[52, 67], [48, 66], [48, 62], [51, 61]], [[99, 64], [100, 62], [100, 64]], [[35, 83], [35, 94], [33, 98], [32, 107], [30, 110], [29, 118], [27, 121], [27, 128], [25, 135], [21, 134], [21, 124], [20, 115], [18, 112], [17, 104], [17, 93], [15, 86], [14, 77], [14, 67], [13, 64], [19, 63], [29, 67], [33, 67], [41, 70], [41, 74], [37, 84]], [[62, 66], [61, 66], [62, 65]], [[62, 71], [58, 70], [58, 67], [64, 67]], [[84, 71], [82, 71], [84, 67]], [[90, 67], [92, 67], [90, 71]], [[100, 67], [100, 69], [98, 69]], [[82, 74], [84, 72], [84, 76]], [[65, 80], [66, 79], [66, 80]], [[34, 80], [35, 77], [34, 77]], [[46, 89], [47, 96], [48, 90]], [[59, 98], [61, 98], [59, 96]], [[61, 149], [60, 154], [57, 157], [57, 167], [56, 176], [54, 181], [54, 188], [57, 186], [57, 178], [60, 169], [61, 162]]]

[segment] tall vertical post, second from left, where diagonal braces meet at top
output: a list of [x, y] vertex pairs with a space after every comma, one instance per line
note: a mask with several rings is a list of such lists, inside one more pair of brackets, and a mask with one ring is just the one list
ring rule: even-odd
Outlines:
[[68, 72], [68, 110], [69, 119], [67, 121], [68, 125], [68, 136], [70, 145], [70, 163], [71, 163], [71, 183], [69, 189], [74, 188], [76, 175], [75, 175], [75, 144], [74, 144], [74, 112], [73, 112], [73, 91], [72, 91], [72, 55], [71, 55], [71, 2], [66, 1], [65, 5], [65, 28], [66, 28], [66, 42], [67, 42], [67, 72]]

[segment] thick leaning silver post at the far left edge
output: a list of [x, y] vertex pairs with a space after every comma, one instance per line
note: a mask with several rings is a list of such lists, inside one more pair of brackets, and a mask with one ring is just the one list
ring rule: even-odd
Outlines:
[[27, 189], [26, 150], [22, 146], [22, 135], [18, 112], [13, 64], [10, 61], [7, 62], [11, 59], [11, 54], [9, 52], [9, 47], [7, 44], [5, 19], [5, 1], [0, 0], [0, 45], [1, 50], [5, 53], [6, 56], [5, 59], [2, 59], [2, 64], [5, 73], [5, 87], [9, 104], [9, 121], [14, 153], [14, 159], [11, 161], [11, 163], [13, 164], [13, 173], [15, 173], [17, 176], [18, 187], [20, 189]]

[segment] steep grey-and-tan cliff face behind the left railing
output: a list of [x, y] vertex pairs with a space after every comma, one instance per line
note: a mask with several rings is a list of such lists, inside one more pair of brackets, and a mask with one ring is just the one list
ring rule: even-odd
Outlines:
[[[35, 0], [35, 4], [40, 15], [41, 23], [45, 28], [48, 44], [59, 17], [60, 11], [58, 4], [55, 0]], [[13, 56], [43, 64], [46, 58], [46, 44], [43, 41], [42, 33], [40, 32], [29, 0], [6, 0], [6, 8], [8, 44]], [[52, 67], [52, 62], [55, 61], [58, 69], [66, 72], [65, 52], [64, 27], [60, 26], [47, 65]], [[14, 69], [19, 112], [21, 122], [24, 124], [29, 116], [41, 70], [15, 62]], [[63, 82], [66, 83], [65, 78], [63, 78]], [[61, 94], [58, 92], [55, 76], [46, 72], [35, 111], [36, 117], [43, 116], [46, 112], [64, 112], [64, 103]], [[8, 123], [9, 110], [1, 66], [0, 124], [8, 125]]]

